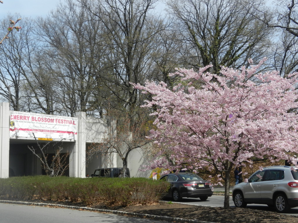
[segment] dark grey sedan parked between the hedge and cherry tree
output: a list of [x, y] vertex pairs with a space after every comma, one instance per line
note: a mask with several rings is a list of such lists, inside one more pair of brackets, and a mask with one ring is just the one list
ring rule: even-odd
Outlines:
[[194, 173], [170, 173], [160, 180], [170, 183], [170, 189], [164, 197], [171, 197], [174, 201], [179, 201], [182, 197], [207, 200], [213, 194], [212, 184]]

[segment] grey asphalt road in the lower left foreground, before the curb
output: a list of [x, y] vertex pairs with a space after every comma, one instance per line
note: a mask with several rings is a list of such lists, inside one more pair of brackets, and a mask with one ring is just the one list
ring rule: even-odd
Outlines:
[[153, 219], [67, 208], [0, 203], [0, 223], [164, 223]]

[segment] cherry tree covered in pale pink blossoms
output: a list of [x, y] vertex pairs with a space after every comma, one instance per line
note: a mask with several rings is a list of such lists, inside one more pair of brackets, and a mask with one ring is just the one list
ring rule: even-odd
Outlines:
[[280, 160], [297, 153], [297, 73], [282, 78], [277, 71], [258, 72], [265, 60], [250, 60], [241, 70], [222, 67], [218, 75], [206, 72], [211, 65], [198, 72], [178, 69], [172, 75], [179, 74], [181, 82], [172, 89], [163, 82], [136, 84], [152, 96], [144, 106], [158, 108], [151, 114], [157, 128], [150, 137], [160, 156], [151, 167], [174, 169], [174, 163], [175, 169], [188, 165], [219, 173], [229, 208], [233, 168], [252, 158]]

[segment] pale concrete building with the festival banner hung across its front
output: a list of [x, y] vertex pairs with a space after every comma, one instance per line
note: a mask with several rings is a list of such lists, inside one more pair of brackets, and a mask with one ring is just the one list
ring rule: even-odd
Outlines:
[[[122, 167], [117, 154], [109, 163], [98, 154], [86, 165], [86, 148], [92, 142], [100, 142], [113, 125], [113, 119], [86, 117], [85, 112], [77, 112], [75, 117], [15, 112], [10, 111], [9, 103], [0, 103], [0, 178], [44, 174], [41, 161], [29, 149], [38, 153], [37, 142], [41, 147], [46, 145], [49, 156], [54, 154], [53, 146], [62, 148], [61, 153], [69, 153], [66, 175], [70, 177], [83, 178], [95, 168]], [[131, 176], [148, 177], [150, 172], [139, 171], [143, 165], [142, 151], [131, 151], [128, 158]]]

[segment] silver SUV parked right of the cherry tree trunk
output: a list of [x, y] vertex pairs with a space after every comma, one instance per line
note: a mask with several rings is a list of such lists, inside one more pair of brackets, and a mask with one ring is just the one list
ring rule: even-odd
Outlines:
[[298, 207], [298, 172], [294, 167], [273, 166], [258, 170], [248, 182], [233, 188], [233, 201], [237, 208], [247, 204], [266, 204], [283, 213]]

